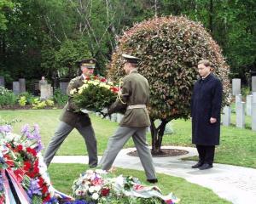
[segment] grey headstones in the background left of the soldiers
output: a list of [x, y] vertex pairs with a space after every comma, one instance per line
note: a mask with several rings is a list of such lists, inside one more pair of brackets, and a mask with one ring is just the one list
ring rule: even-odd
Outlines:
[[[60, 82], [60, 89], [62, 94], [67, 93], [67, 85], [68, 85], [68, 82]], [[0, 86], [5, 87], [4, 77], [1, 77], [1, 76], [0, 76]], [[51, 87], [50, 84], [46, 83], [44, 85], [41, 85], [39, 88], [37, 83], [37, 86], [35, 87], [40, 89], [40, 99], [44, 100], [44, 99], [50, 99], [53, 97], [53, 88]], [[14, 94], [20, 94], [20, 93], [26, 92], [25, 78], [20, 78], [19, 81], [13, 82], [13, 92]]]

